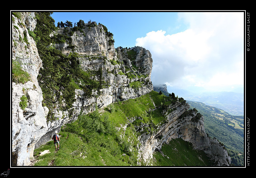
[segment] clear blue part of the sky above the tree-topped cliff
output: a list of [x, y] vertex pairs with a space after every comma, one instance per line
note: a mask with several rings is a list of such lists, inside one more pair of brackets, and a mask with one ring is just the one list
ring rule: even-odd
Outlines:
[[186, 29], [186, 25], [177, 21], [177, 12], [53, 12], [51, 17], [55, 25], [67, 20], [74, 25], [80, 19], [85, 23], [89, 20], [101, 23], [113, 33], [115, 47], [134, 47], [137, 38], [151, 31], [162, 29], [173, 34]]

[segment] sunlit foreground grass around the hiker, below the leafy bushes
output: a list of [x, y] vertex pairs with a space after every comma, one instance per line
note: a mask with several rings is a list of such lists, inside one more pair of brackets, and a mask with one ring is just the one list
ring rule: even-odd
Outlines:
[[[79, 154], [71, 154], [79, 148], [79, 145], [86, 146], [85, 157], [78, 158]], [[39, 152], [44, 150], [49, 150], [51, 153], [37, 157]], [[35, 166], [130, 166], [121, 158], [111, 155], [107, 149], [85, 144], [76, 134], [68, 132], [60, 132], [60, 150], [55, 152], [53, 141], [50, 141], [35, 149], [34, 157], [39, 160]]]

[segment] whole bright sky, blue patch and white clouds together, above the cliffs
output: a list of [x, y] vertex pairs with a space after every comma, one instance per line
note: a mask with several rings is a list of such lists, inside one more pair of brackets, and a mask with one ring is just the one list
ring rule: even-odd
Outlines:
[[151, 81], [179, 89], [235, 91], [244, 85], [244, 12], [54, 12], [57, 22], [101, 23], [115, 47], [142, 46]]

